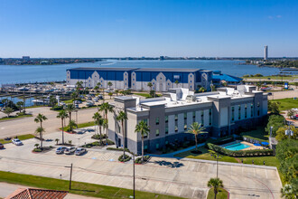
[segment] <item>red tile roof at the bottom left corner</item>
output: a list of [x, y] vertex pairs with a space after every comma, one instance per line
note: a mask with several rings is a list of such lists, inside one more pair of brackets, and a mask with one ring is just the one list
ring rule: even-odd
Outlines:
[[13, 194], [10, 194], [7, 197], [5, 197], [5, 199], [62, 199], [68, 193], [69, 192], [67, 191], [20, 188], [15, 190]]

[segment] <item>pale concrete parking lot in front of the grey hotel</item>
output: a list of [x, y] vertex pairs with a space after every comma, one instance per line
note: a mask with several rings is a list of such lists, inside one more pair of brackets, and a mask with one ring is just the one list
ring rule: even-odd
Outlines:
[[[89, 149], [84, 156], [56, 155], [54, 150], [33, 154], [31, 150], [36, 142], [29, 139], [21, 147], [5, 145], [6, 149], [0, 150], [0, 170], [54, 178], [62, 175], [63, 179], [69, 179], [70, 169], [64, 166], [73, 163], [75, 181], [133, 187], [132, 162], [117, 162], [122, 152]], [[207, 182], [216, 176], [216, 163], [153, 157], [145, 165], [135, 165], [135, 176], [138, 190], [205, 199]], [[220, 163], [219, 178], [230, 198], [280, 198], [282, 185], [275, 167]]]

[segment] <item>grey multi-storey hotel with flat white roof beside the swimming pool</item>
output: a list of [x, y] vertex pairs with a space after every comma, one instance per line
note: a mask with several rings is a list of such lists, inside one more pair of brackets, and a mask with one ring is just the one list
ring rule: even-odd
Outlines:
[[[209, 137], [225, 137], [255, 128], [267, 115], [267, 94], [255, 86], [240, 85], [237, 90], [220, 88], [218, 91], [194, 93], [188, 89], [172, 89], [163, 97], [139, 99], [115, 97], [110, 104], [115, 112], [108, 114], [108, 138], [117, 147], [127, 147], [141, 153], [141, 136], [135, 133], [135, 125], [147, 122], [150, 132], [144, 137], [144, 151], [152, 153], [172, 143], [193, 140], [188, 129], [193, 122], [206, 128]], [[116, 120], [119, 111], [127, 114], [124, 122]]]

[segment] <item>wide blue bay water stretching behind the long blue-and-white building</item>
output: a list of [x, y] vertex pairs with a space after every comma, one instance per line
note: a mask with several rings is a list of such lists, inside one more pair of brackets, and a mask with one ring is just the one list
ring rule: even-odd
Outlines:
[[245, 74], [260, 73], [273, 75], [277, 68], [260, 68], [256, 65], [241, 64], [244, 61], [116, 61], [94, 63], [73, 63], [58, 65], [0, 65], [0, 84], [42, 81], [64, 81], [66, 70], [77, 67], [123, 67], [123, 68], [198, 68], [222, 71], [241, 77]]

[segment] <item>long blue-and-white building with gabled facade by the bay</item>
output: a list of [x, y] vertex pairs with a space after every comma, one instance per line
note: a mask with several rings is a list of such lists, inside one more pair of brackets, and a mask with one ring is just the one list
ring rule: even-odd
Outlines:
[[[76, 68], [67, 70], [67, 84], [94, 88], [100, 82], [102, 89], [130, 88], [131, 90], [166, 91], [172, 88], [210, 90], [212, 71], [198, 69], [157, 69], [157, 68]], [[107, 83], [113, 86], [108, 87]], [[152, 83], [152, 88], [148, 83]]]

